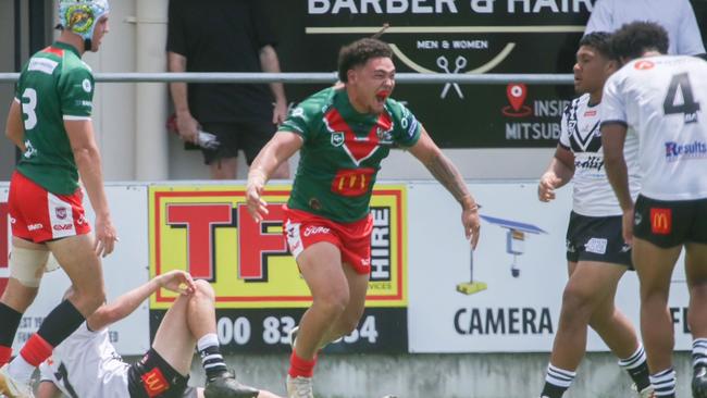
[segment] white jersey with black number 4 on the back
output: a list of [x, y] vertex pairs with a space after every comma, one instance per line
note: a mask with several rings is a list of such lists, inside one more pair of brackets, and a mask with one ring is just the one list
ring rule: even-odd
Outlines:
[[604, 87], [603, 123], [635, 129], [641, 194], [707, 198], [707, 62], [686, 55], [633, 60]]

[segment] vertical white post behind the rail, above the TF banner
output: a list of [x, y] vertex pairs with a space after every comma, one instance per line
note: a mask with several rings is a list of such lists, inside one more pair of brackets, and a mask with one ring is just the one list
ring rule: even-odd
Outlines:
[[[166, 72], [168, 0], [136, 0], [138, 72]], [[138, 181], [168, 179], [168, 136], [164, 123], [168, 86], [140, 83], [135, 90], [135, 177]]]

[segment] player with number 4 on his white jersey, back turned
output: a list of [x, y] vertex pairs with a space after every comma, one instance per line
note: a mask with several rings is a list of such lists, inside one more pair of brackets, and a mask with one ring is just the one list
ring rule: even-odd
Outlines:
[[[707, 62], [662, 55], [668, 34], [631, 23], [612, 38], [623, 66], [604, 88], [601, 141], [606, 170], [623, 210], [641, 282], [641, 332], [658, 397], [675, 396], [672, 271], [685, 248], [693, 335], [693, 396], [707, 397]], [[627, 130], [640, 141], [641, 192], [633, 202], [624, 159]]]

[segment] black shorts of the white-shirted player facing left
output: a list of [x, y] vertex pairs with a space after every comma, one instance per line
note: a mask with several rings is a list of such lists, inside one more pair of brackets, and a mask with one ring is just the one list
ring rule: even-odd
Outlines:
[[570, 213], [567, 261], [608, 262], [633, 270], [631, 247], [621, 235], [621, 215], [593, 217]]

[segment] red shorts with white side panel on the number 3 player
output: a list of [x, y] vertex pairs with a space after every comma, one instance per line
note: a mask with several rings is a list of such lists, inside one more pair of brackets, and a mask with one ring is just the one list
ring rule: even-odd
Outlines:
[[12, 174], [8, 210], [12, 236], [36, 244], [90, 233], [84, 194], [54, 195], [18, 172]]

